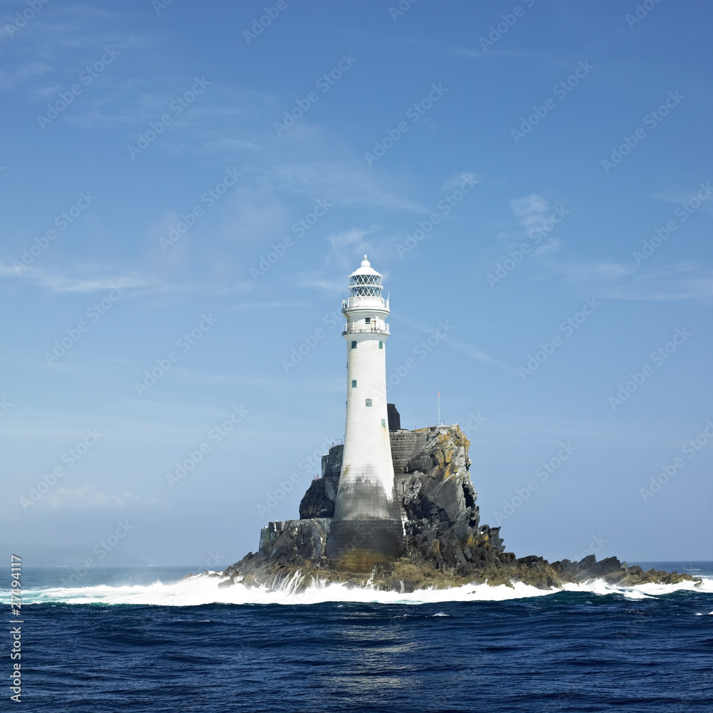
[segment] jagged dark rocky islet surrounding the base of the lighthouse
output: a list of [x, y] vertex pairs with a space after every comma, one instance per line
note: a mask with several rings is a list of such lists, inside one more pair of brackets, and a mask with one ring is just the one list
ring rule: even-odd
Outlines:
[[324, 556], [342, 465], [342, 446], [333, 446], [322, 459], [322, 478], [312, 481], [299, 504], [300, 519], [262, 528], [260, 550], [224, 574], [247, 585], [273, 586], [299, 571], [303, 586], [312, 578], [354, 585], [369, 580], [376, 588], [399, 591], [513, 582], [548, 589], [595, 578], [620, 586], [692, 580], [686, 574], [644, 572], [614, 557], [597, 562], [590, 555], [578, 563], [551, 564], [535, 555], [516, 558], [505, 551], [500, 528], [480, 524], [468, 446], [457, 425], [391, 434], [406, 543], [398, 560], [379, 563], [368, 573], [349, 573], [332, 568]]

